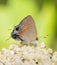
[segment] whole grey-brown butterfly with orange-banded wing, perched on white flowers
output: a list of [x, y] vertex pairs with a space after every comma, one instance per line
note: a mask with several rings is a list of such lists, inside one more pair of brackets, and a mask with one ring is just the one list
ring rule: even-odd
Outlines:
[[25, 17], [11, 32], [11, 37], [21, 42], [32, 42], [37, 40], [35, 22], [31, 15]]

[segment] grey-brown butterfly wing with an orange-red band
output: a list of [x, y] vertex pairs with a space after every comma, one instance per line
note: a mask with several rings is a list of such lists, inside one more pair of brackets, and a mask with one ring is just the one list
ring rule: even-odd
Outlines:
[[36, 40], [36, 27], [34, 20], [30, 15], [20, 22], [18, 35], [24, 41]]

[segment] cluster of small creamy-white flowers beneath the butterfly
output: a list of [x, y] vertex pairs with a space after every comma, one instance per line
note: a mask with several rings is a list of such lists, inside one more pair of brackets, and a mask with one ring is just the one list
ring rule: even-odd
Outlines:
[[44, 43], [21, 47], [12, 44], [0, 52], [0, 65], [57, 65], [57, 52], [46, 49]]

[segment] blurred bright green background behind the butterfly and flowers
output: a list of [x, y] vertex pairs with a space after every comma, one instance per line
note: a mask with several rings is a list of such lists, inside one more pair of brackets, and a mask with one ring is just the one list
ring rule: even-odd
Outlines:
[[39, 42], [57, 50], [57, 0], [0, 0], [0, 50], [19, 43], [7, 39], [14, 26], [27, 15], [34, 18]]

